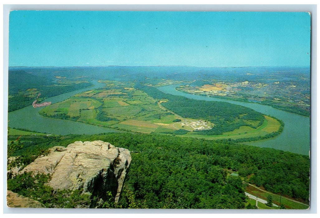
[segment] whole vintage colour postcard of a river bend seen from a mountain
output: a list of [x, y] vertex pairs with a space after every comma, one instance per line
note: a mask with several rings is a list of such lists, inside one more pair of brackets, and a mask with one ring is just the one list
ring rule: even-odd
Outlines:
[[7, 206], [308, 209], [308, 12], [9, 16]]

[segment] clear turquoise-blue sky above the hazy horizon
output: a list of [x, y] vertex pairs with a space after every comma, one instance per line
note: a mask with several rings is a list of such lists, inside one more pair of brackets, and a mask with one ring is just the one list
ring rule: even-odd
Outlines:
[[9, 66], [309, 66], [306, 12], [12, 11]]

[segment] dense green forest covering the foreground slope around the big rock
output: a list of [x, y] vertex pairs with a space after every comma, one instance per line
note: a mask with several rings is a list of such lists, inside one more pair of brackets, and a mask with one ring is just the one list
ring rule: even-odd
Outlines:
[[[15, 140], [9, 136], [8, 140]], [[267, 191], [304, 202], [309, 199], [309, 157], [270, 148], [156, 134], [108, 133], [68, 136], [22, 136], [22, 143], [9, 144], [12, 156], [26, 165], [49, 147], [74, 141], [102, 140], [131, 151], [132, 162], [117, 208], [244, 208], [246, 181]], [[12, 149], [10, 149], [12, 148]], [[14, 166], [11, 163], [10, 166]], [[8, 175], [8, 189], [28, 197], [19, 178]], [[26, 179], [28, 176], [23, 177]], [[22, 177], [20, 178], [20, 180]], [[39, 178], [40, 179], [40, 178]], [[9, 185], [10, 184], [10, 185]], [[43, 183], [44, 184], [44, 183]], [[30, 185], [34, 185], [33, 183]], [[59, 196], [41, 186], [40, 201], [56, 205]], [[45, 191], [48, 189], [47, 191]], [[59, 193], [58, 193], [59, 194]], [[54, 197], [55, 196], [55, 197]], [[71, 194], [65, 194], [70, 198]], [[85, 199], [86, 196], [79, 195]], [[68, 204], [66, 207], [74, 207]], [[98, 205], [91, 205], [98, 206]]]

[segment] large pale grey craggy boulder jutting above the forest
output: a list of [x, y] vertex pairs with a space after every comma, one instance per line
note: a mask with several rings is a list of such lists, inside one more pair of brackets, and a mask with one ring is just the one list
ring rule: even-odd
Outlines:
[[76, 141], [66, 148], [52, 147], [47, 156], [37, 158], [20, 172], [50, 174], [48, 185], [55, 190], [82, 188], [93, 195], [111, 191], [118, 202], [130, 162], [128, 149], [100, 140]]

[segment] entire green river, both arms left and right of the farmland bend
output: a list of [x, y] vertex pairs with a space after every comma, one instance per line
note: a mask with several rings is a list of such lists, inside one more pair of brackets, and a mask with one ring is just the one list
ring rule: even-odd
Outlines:
[[[58, 96], [47, 98], [46, 101], [51, 101], [52, 104], [66, 100], [67, 98], [88, 90], [101, 88], [103, 83], [99, 83], [96, 80], [92, 81], [94, 86], [81, 90], [76, 90], [68, 93], [64, 93]], [[310, 150], [310, 119], [306, 116], [301, 116], [294, 113], [281, 111], [271, 106], [260, 105], [255, 103], [238, 102], [220, 98], [198, 96], [183, 93], [175, 90], [175, 87], [180, 84], [168, 85], [159, 87], [158, 89], [164, 93], [172, 95], [180, 95], [197, 100], [206, 101], [225, 101], [228, 103], [242, 105], [250, 107], [260, 113], [274, 116], [284, 121], [284, 131], [273, 138], [260, 140], [255, 142], [246, 142], [242, 144], [249, 144], [259, 147], [275, 148], [283, 151], [290, 151], [294, 153], [308, 155]], [[120, 132], [115, 129], [98, 127], [81, 122], [53, 119], [49, 117], [43, 117], [38, 112], [41, 108], [34, 108], [32, 105], [24, 107], [22, 109], [12, 111], [8, 113], [8, 127], [11, 128], [25, 128], [37, 132], [46, 132], [58, 135], [67, 134], [97, 134], [105, 132]]]

